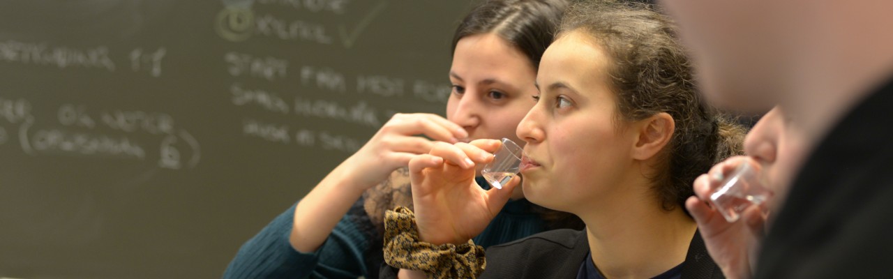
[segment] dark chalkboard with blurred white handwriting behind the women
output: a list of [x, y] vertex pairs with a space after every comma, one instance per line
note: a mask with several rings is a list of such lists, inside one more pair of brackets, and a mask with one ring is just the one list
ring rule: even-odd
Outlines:
[[0, 277], [214, 278], [397, 112], [469, 1], [0, 2]]

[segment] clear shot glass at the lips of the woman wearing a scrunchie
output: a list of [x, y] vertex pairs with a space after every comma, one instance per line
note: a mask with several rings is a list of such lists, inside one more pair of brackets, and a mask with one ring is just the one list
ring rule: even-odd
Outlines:
[[493, 154], [493, 161], [480, 170], [487, 182], [497, 189], [502, 189], [505, 183], [520, 172], [521, 158], [524, 150], [515, 144], [512, 139], [502, 139], [502, 147]]

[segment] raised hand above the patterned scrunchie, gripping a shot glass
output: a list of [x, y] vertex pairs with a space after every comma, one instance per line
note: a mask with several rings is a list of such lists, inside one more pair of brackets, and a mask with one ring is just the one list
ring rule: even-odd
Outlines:
[[471, 143], [438, 142], [430, 154], [409, 162], [413, 207], [421, 241], [463, 244], [483, 232], [520, 182], [513, 178], [503, 189], [483, 190], [474, 181], [475, 165], [493, 160], [497, 139]]

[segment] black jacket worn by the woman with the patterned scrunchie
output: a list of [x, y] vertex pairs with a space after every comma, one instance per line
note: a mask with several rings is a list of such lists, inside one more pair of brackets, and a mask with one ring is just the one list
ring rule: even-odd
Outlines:
[[[480, 278], [577, 278], [580, 263], [589, 253], [586, 231], [541, 232], [487, 249], [487, 269]], [[380, 278], [396, 278], [397, 270], [382, 266]], [[699, 233], [689, 245], [681, 278], [724, 278], [707, 255]]]

